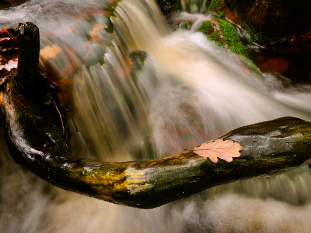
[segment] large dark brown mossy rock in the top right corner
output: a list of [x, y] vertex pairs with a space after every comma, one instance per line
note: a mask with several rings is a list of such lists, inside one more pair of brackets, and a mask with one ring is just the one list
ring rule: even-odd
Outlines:
[[225, 16], [249, 33], [249, 43], [290, 42], [311, 30], [310, 0], [211, 0], [210, 10]]

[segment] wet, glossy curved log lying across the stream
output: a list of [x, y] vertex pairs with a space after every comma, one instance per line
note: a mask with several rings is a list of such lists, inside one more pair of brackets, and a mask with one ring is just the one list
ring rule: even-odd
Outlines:
[[116, 204], [155, 208], [211, 187], [273, 176], [311, 163], [311, 122], [294, 117], [244, 126], [220, 136], [243, 147], [241, 156], [231, 163], [213, 163], [193, 151], [124, 163], [77, 158], [28, 141], [3, 89], [0, 122], [15, 162], [59, 188]]

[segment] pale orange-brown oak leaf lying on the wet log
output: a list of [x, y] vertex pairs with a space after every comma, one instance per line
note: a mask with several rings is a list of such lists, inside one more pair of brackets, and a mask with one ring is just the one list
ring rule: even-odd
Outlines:
[[232, 157], [240, 157], [239, 150], [242, 149], [240, 143], [230, 140], [224, 141], [222, 138], [218, 138], [214, 142], [202, 143], [201, 146], [196, 147], [191, 151], [205, 159], [208, 157], [212, 162], [217, 163], [217, 158], [232, 162]]

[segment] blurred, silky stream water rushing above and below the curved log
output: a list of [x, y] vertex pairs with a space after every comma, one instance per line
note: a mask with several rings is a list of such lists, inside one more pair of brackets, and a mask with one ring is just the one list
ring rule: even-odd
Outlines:
[[[30, 0], [0, 10], [1, 28], [19, 21], [39, 27], [42, 67], [68, 89], [63, 102], [80, 129], [71, 127], [74, 156], [157, 158], [247, 124], [282, 116], [311, 120], [310, 84], [293, 86], [286, 77], [261, 73], [196, 32], [212, 18], [199, 7], [204, 1], [182, 2], [185, 12], [166, 21], [152, 0], [123, 0], [111, 18], [112, 34], [94, 30], [109, 25], [103, 16], [109, 4]], [[172, 29], [186, 21], [188, 29]], [[105, 51], [103, 65], [85, 65], [87, 43]], [[132, 69], [129, 54], [138, 50], [147, 57], [141, 69]], [[14, 163], [3, 135], [1, 149], [0, 232], [310, 232], [308, 166], [139, 210], [41, 181]]]

